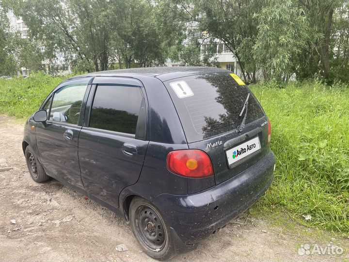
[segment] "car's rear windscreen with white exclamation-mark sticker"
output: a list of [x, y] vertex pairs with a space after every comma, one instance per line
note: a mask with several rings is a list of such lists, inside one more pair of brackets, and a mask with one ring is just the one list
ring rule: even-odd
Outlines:
[[[245, 125], [264, 116], [250, 89], [228, 72], [177, 78], [165, 82], [188, 143], [236, 129], [240, 111], [251, 93]], [[245, 112], [244, 112], [245, 113]]]

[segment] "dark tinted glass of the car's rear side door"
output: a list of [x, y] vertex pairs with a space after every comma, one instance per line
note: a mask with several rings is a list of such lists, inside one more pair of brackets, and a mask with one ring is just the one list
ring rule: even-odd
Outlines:
[[135, 134], [143, 96], [135, 86], [98, 85], [90, 127]]

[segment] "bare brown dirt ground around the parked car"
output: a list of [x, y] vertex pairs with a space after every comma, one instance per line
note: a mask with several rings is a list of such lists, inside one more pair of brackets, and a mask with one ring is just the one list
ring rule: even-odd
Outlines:
[[[119, 216], [63, 186], [35, 183], [22, 152], [23, 121], [0, 115], [0, 261], [154, 261]], [[282, 216], [282, 214], [280, 214]], [[11, 223], [15, 219], [16, 224]], [[125, 244], [129, 250], [118, 252]], [[299, 255], [304, 244], [341, 246], [342, 255]], [[349, 240], [287, 218], [242, 214], [173, 261], [348, 261]]]

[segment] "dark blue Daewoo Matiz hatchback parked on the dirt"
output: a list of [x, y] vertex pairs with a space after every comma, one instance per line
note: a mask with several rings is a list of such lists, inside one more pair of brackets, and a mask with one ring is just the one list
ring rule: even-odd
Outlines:
[[155, 67], [71, 78], [27, 121], [32, 179], [120, 213], [149, 256], [194, 248], [273, 179], [270, 122], [232, 72]]

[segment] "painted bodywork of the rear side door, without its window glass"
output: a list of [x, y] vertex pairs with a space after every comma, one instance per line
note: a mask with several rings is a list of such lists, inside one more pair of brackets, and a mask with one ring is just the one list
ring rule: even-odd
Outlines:
[[[136, 86], [142, 86], [142, 83], [131, 78], [96, 77], [87, 102], [84, 127], [79, 135], [79, 164], [86, 191], [90, 197], [119, 207], [120, 192], [139, 179], [149, 142], [147, 139], [136, 139], [134, 135], [89, 127], [95, 89], [103, 83], [115, 84], [113, 88], [118, 88], [117, 85], [138, 88]], [[128, 155], [125, 152], [127, 148], [135, 152]]]

